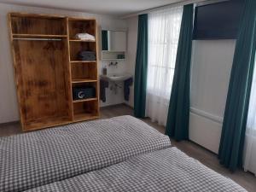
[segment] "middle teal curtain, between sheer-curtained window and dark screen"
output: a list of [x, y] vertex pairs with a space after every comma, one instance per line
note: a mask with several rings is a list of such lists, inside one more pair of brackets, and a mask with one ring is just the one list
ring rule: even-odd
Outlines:
[[177, 141], [189, 138], [189, 90], [193, 14], [193, 4], [183, 7], [172, 94], [166, 123], [166, 135], [174, 137]]

